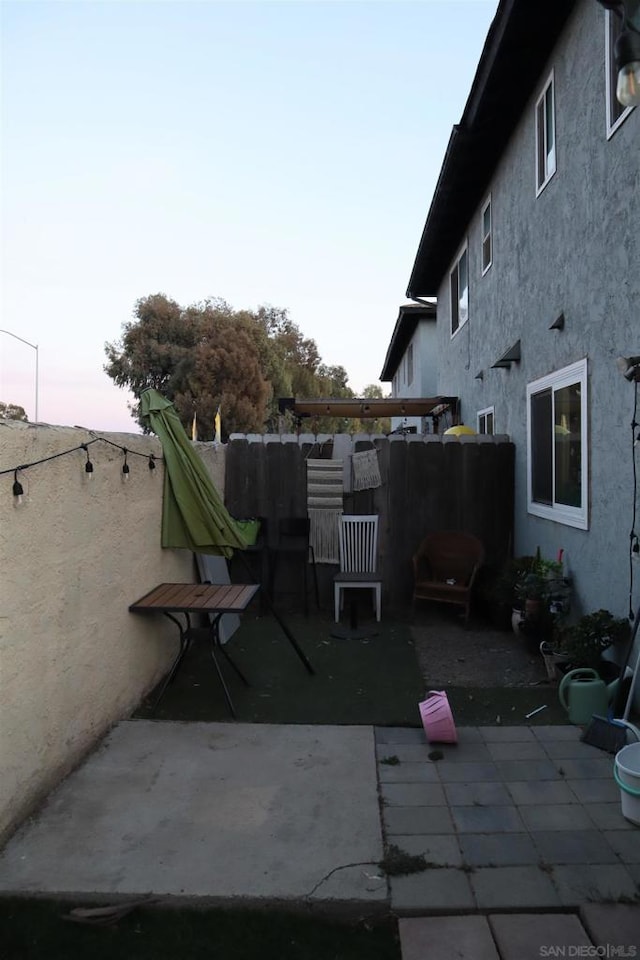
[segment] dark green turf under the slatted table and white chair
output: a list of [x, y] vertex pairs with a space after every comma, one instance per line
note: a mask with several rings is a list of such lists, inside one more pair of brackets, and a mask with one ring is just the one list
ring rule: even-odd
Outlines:
[[[424, 683], [408, 626], [365, 622], [362, 640], [331, 636], [329, 618], [286, 617], [315, 669], [305, 670], [278, 623], [245, 615], [228, 649], [251, 684], [245, 687], [224, 657], [218, 660], [245, 723], [328, 723], [419, 726]], [[232, 720], [207, 641], [194, 643], [159, 707], [152, 694], [135, 714], [157, 720]]]

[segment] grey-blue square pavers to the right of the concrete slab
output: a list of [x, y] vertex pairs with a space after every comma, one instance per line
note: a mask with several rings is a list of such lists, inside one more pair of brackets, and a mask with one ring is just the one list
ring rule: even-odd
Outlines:
[[[457, 745], [431, 747], [420, 729], [376, 728], [387, 847], [430, 866], [391, 878], [392, 909], [568, 910], [636, 899], [640, 828], [622, 816], [613, 757], [580, 733], [466, 727]], [[434, 749], [442, 759], [429, 758]]]

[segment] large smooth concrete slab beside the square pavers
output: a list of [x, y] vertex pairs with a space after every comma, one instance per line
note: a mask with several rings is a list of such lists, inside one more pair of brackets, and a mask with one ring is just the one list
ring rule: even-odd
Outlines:
[[126, 721], [7, 845], [0, 890], [375, 904], [382, 856], [371, 727]]

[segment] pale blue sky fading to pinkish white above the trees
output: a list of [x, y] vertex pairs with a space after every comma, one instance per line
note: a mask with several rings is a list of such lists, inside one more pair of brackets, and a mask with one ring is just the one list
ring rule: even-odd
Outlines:
[[[377, 383], [497, 0], [0, 0], [0, 400], [135, 431], [136, 300], [286, 308]], [[390, 385], [385, 385], [388, 392]]]

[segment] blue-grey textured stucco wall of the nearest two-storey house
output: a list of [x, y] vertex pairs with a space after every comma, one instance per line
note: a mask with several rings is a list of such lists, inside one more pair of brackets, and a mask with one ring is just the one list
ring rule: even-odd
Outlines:
[[[535, 103], [554, 71], [557, 169], [535, 189]], [[438, 291], [438, 392], [464, 422], [495, 407], [516, 447], [516, 554], [566, 552], [576, 612], [629, 607], [634, 387], [615, 359], [640, 353], [640, 108], [607, 139], [604, 11], [579, 4], [494, 173], [493, 265], [481, 275], [481, 206], [468, 224], [469, 320], [450, 336], [448, 273]], [[451, 264], [453, 267], [453, 263]], [[549, 330], [564, 313], [564, 330]], [[517, 340], [522, 359], [491, 365]], [[527, 512], [527, 384], [588, 362], [589, 529]], [[483, 371], [483, 379], [475, 379]], [[635, 566], [640, 583], [640, 564]], [[637, 602], [636, 599], [634, 603]]]

